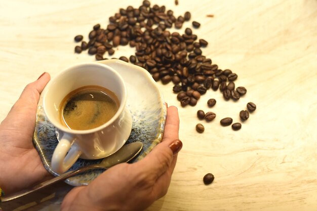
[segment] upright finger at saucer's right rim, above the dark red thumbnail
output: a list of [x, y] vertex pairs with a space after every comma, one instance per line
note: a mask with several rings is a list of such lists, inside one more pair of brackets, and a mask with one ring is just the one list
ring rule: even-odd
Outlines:
[[175, 106], [170, 106], [167, 109], [167, 117], [164, 128], [163, 142], [164, 141], [173, 141], [178, 139], [178, 131], [179, 131], [179, 117], [178, 110]]

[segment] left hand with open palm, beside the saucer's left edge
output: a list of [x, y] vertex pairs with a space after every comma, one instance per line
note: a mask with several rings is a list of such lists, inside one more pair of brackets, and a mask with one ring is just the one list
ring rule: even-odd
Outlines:
[[0, 187], [13, 193], [52, 177], [44, 168], [32, 138], [39, 94], [50, 80], [44, 73], [28, 84], [0, 124]]

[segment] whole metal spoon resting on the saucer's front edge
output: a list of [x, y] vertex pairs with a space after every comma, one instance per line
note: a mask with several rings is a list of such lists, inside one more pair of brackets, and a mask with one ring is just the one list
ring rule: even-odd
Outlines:
[[108, 157], [105, 157], [100, 162], [100, 164], [93, 164], [90, 166], [82, 167], [82, 168], [77, 169], [77, 170], [66, 172], [64, 174], [59, 175], [58, 177], [55, 177], [53, 179], [50, 179], [50, 180], [42, 182], [38, 185], [35, 185], [34, 187], [32, 187], [30, 189], [22, 190], [18, 193], [14, 193], [14, 194], [11, 194], [8, 196], [1, 197], [1, 202], [10, 201], [10, 200], [19, 198], [21, 196], [27, 195], [29, 193], [36, 191], [36, 190], [39, 190], [39, 189], [42, 189], [42, 188], [47, 187], [49, 185], [52, 185], [58, 181], [65, 180], [69, 177], [72, 177], [74, 175], [77, 175], [77, 174], [82, 173], [82, 172], [87, 171], [87, 170], [91, 170], [91, 169], [105, 169], [105, 170], [107, 170], [116, 164], [129, 162], [132, 159], [134, 159], [134, 157], [136, 155], [138, 155], [140, 153], [140, 151], [142, 150], [142, 147], [143, 147], [142, 142], [134, 142], [134, 143], [126, 144], [123, 147], [121, 147], [118, 151], [116, 151], [114, 154], [112, 154]]

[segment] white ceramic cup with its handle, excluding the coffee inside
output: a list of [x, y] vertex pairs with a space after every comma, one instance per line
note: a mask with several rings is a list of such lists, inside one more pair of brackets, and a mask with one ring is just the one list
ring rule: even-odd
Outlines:
[[[60, 103], [71, 91], [89, 85], [102, 86], [112, 91], [120, 105], [115, 115], [103, 125], [89, 130], [73, 130], [60, 120]], [[78, 159], [101, 159], [120, 149], [131, 133], [132, 117], [126, 108], [127, 89], [122, 77], [111, 67], [85, 63], [61, 71], [43, 90], [43, 108], [55, 126], [59, 143], [52, 160], [52, 170], [67, 171]]]

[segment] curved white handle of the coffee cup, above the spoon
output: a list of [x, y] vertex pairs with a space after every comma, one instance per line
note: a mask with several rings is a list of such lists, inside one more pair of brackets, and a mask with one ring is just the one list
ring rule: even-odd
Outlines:
[[51, 161], [52, 170], [54, 172], [58, 174], [66, 172], [82, 154], [82, 151], [76, 144], [73, 144], [73, 142], [74, 137], [70, 134], [64, 134], [60, 139]]

